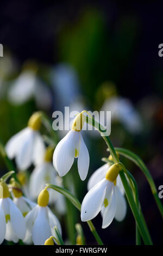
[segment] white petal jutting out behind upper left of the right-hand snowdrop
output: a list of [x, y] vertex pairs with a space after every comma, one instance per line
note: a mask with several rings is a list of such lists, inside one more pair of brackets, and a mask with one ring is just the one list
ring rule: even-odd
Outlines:
[[106, 172], [109, 169], [109, 164], [105, 163], [103, 166], [95, 170], [95, 172], [91, 175], [88, 184], [87, 190], [90, 190], [94, 187], [99, 181], [105, 178]]

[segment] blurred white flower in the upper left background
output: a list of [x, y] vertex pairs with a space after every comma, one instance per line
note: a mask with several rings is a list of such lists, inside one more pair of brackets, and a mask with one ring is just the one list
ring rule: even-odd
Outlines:
[[52, 95], [33, 71], [23, 71], [11, 84], [8, 90], [8, 99], [14, 105], [21, 105], [32, 97], [39, 108], [49, 109], [52, 106]]

